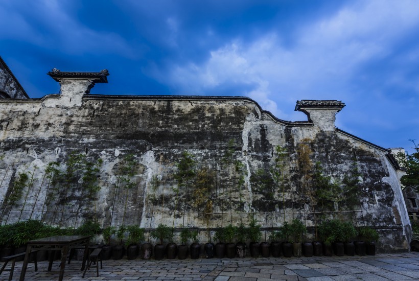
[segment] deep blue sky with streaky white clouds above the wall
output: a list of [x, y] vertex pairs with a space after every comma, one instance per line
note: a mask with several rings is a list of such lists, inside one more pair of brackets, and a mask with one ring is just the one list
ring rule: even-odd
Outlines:
[[0, 55], [32, 98], [45, 74], [108, 69], [91, 93], [247, 96], [280, 119], [341, 100], [336, 125], [383, 147], [419, 142], [419, 2], [0, 3]]

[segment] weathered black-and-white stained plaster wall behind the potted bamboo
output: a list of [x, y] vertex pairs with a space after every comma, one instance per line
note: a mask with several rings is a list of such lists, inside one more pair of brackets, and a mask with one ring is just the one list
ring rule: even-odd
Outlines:
[[[408, 248], [410, 224], [389, 152], [336, 129], [330, 112], [324, 118], [315, 111], [312, 122], [292, 123], [277, 120], [247, 98], [73, 94], [0, 101], [2, 223], [31, 218], [77, 227], [98, 218], [102, 227], [165, 223], [204, 229], [208, 223], [214, 229], [248, 223], [254, 216], [271, 230], [285, 217], [303, 220], [312, 236], [315, 220], [335, 217], [377, 228], [381, 251]], [[320, 162], [334, 182], [341, 182], [355, 163], [359, 204], [347, 209], [336, 203], [335, 210], [342, 212], [313, 215], [313, 205], [318, 210], [320, 202], [306, 194], [298, 168], [300, 144], [310, 148], [311, 162]], [[289, 154], [282, 172], [291, 183], [284, 190], [272, 183], [277, 146]], [[214, 182], [200, 204], [196, 182], [180, 185], [176, 178], [184, 152], [193, 155], [194, 170], [206, 171]], [[50, 163], [65, 171], [72, 155], [98, 165], [98, 192], [86, 190], [86, 170], [77, 167], [74, 177], [54, 182]], [[28, 181], [11, 204], [21, 173]], [[205, 216], [209, 199], [211, 214]]]

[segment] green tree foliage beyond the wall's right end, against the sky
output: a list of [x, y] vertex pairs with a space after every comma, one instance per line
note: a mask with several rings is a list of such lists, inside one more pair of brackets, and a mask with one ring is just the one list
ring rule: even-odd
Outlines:
[[[413, 142], [413, 140], [412, 140]], [[419, 192], [419, 147], [413, 142], [414, 150], [412, 154], [398, 153], [398, 160], [401, 162], [401, 166], [406, 168], [406, 174], [402, 176], [400, 182], [404, 186], [410, 186]]]

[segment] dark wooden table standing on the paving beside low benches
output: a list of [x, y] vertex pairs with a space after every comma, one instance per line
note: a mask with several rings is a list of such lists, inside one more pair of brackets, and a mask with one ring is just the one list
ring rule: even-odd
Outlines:
[[37, 240], [31, 240], [28, 242], [26, 247], [26, 254], [22, 271], [20, 272], [20, 281], [25, 280], [26, 269], [28, 267], [30, 253], [34, 250], [49, 250], [50, 251], [50, 263], [48, 265], [48, 271], [51, 271], [52, 263], [54, 261], [54, 252], [61, 251], [61, 267], [59, 281], [62, 281], [64, 276], [65, 262], [67, 260], [67, 253], [72, 248], [84, 247], [84, 256], [81, 270], [84, 270], [86, 260], [89, 251], [90, 236], [53, 236], [46, 237]]

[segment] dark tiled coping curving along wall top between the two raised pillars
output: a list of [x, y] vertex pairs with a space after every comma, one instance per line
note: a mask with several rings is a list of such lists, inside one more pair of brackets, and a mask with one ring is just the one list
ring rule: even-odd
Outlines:
[[176, 95], [148, 95], [148, 96], [134, 96], [134, 95], [99, 95], [88, 94], [83, 95], [83, 99], [112, 99], [112, 100], [245, 100], [255, 104], [259, 110], [266, 113], [273, 121], [281, 123], [286, 126], [313, 126], [309, 121], [286, 121], [276, 118], [270, 111], [262, 109], [258, 102], [242, 96], [176, 96]]

